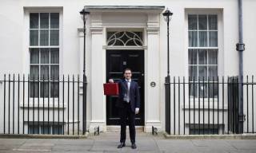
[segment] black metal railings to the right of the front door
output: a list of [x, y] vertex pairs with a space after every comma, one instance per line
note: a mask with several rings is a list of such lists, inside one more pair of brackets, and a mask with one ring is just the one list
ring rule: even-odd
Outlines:
[[[254, 77], [166, 77], [166, 133], [206, 135], [254, 133]], [[239, 114], [242, 84], [243, 114]]]

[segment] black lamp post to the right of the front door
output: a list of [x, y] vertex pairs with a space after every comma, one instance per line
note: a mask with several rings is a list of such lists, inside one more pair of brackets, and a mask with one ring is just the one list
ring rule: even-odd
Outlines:
[[166, 99], [166, 133], [170, 135], [170, 59], [169, 59], [169, 22], [173, 13], [166, 9], [162, 13], [167, 22], [167, 77], [165, 81], [165, 99]]

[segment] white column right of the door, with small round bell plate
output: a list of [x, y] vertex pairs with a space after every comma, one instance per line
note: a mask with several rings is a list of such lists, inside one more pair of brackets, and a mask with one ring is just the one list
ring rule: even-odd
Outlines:
[[[145, 51], [145, 131], [152, 126], [162, 128], [160, 121], [160, 50], [159, 50], [159, 14], [148, 14], [147, 50]], [[150, 83], [155, 82], [151, 87]]]

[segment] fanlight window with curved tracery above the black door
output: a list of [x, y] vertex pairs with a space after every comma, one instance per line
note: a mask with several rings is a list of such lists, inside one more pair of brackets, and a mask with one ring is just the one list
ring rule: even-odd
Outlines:
[[109, 31], [106, 34], [108, 46], [142, 46], [142, 32]]

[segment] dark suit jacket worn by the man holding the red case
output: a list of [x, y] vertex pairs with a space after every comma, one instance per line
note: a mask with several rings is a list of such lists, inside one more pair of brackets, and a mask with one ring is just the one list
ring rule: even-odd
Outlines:
[[[118, 81], [118, 87], [119, 87], [119, 96], [118, 101], [116, 103], [116, 107], [123, 108], [124, 102], [123, 98], [126, 93], [126, 80], [123, 78], [122, 80]], [[140, 108], [140, 96], [139, 96], [139, 90], [138, 90], [138, 83], [134, 80], [130, 81], [130, 105], [132, 108], [132, 111], [135, 112], [135, 108]]]

